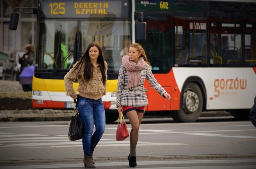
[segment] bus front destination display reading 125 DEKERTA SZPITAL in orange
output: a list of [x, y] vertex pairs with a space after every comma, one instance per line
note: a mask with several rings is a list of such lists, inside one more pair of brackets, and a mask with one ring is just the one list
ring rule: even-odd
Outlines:
[[43, 4], [46, 18], [86, 18], [86, 17], [121, 17], [122, 2], [102, 1], [45, 1]]

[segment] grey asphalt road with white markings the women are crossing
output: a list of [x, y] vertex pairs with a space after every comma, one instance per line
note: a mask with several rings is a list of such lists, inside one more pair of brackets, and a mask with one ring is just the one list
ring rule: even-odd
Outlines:
[[[82, 163], [82, 140], [68, 140], [67, 123], [0, 122], [0, 166]], [[96, 166], [101, 162], [127, 163], [129, 139], [116, 141], [116, 126], [106, 126], [104, 136], [94, 151]], [[159, 122], [140, 126], [137, 161], [142, 164], [142, 161], [173, 159], [256, 159], [255, 152], [256, 128], [250, 121]]]

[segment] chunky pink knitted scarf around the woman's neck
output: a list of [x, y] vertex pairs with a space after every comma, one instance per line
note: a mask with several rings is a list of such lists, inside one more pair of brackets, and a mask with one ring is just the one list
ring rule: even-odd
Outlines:
[[124, 56], [122, 58], [122, 65], [124, 65], [127, 70], [129, 77], [127, 88], [142, 84], [142, 77], [139, 71], [143, 69], [146, 64], [146, 61], [144, 61], [142, 57], [139, 57], [138, 63], [130, 61], [129, 56]]

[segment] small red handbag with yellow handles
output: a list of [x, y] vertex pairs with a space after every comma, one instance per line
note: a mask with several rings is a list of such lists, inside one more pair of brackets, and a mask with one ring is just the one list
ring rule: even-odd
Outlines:
[[[120, 120], [120, 124], [119, 124], [119, 120]], [[117, 120], [116, 141], [123, 141], [128, 137], [129, 137], [129, 132], [126, 126], [126, 122], [124, 121], [124, 115], [121, 112]]]

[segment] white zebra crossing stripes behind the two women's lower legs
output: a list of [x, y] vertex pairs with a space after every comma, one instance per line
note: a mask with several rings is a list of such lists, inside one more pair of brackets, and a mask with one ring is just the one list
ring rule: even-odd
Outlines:
[[[116, 128], [106, 128], [106, 130], [116, 130]], [[130, 130], [128, 128], [128, 130]], [[140, 129], [142, 134], [144, 133], [164, 133], [173, 132], [170, 130], [144, 130]], [[124, 141], [116, 141], [115, 133], [111, 132], [104, 134], [103, 138], [98, 143], [97, 147], [116, 147], [116, 146], [130, 146], [128, 139]], [[106, 139], [110, 138], [112, 139]], [[152, 143], [148, 141], [138, 141], [138, 146], [143, 145], [185, 145], [184, 143]], [[82, 147], [82, 139], [77, 141], [68, 140], [67, 135], [55, 135], [49, 136], [44, 134], [14, 134], [0, 132], [0, 148], [6, 147], [33, 147], [33, 148], [45, 148], [45, 147]]]

